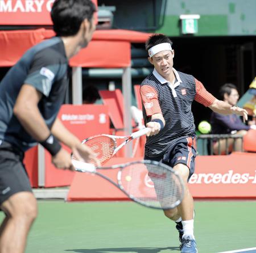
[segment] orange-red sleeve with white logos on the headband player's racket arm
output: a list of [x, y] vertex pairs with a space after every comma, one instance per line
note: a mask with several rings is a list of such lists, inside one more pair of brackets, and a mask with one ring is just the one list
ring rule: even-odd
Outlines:
[[150, 85], [143, 85], [141, 87], [141, 98], [147, 116], [152, 116], [155, 113], [162, 114], [159, 106], [158, 92], [156, 92], [155, 88]]

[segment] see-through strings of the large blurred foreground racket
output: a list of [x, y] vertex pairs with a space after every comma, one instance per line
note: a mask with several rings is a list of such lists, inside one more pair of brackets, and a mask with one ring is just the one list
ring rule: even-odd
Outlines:
[[128, 166], [122, 171], [121, 184], [135, 201], [155, 208], [173, 208], [183, 197], [180, 178], [160, 165]]

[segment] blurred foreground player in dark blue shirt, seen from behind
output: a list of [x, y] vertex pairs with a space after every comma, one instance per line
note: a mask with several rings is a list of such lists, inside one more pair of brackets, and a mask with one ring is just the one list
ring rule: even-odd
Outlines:
[[[95, 30], [96, 7], [90, 0], [56, 0], [51, 10], [56, 37], [35, 45], [0, 83], [0, 252], [23, 253], [37, 215], [24, 151], [38, 142], [57, 168], [74, 170], [71, 153], [80, 161], [96, 155], [57, 118], [68, 87], [68, 60], [86, 47]], [[61, 212], [61, 210], [60, 210]]]

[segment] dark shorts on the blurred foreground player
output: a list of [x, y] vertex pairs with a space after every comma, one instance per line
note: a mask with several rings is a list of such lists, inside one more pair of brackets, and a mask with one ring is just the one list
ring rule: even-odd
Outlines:
[[15, 193], [32, 192], [23, 157], [24, 153], [11, 144], [0, 145], [0, 205]]

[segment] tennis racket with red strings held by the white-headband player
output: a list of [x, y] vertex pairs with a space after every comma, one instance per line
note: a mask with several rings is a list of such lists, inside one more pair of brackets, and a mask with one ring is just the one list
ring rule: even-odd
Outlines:
[[[139, 138], [146, 134], [150, 130], [149, 128], [143, 128], [130, 134], [130, 136], [114, 136], [109, 134], [99, 134], [89, 137], [82, 141], [82, 144], [86, 144], [96, 154], [96, 157], [104, 165], [110, 158], [113, 157], [118, 150], [125, 146], [129, 141]], [[117, 139], [125, 139], [119, 146], [117, 146]], [[77, 160], [75, 155], [72, 155], [73, 160]], [[89, 161], [93, 163], [93, 161]]]

